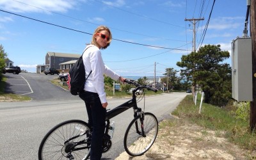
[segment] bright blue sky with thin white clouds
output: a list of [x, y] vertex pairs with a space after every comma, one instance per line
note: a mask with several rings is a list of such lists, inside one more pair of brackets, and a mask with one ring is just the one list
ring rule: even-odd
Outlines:
[[[193, 51], [189, 19], [204, 19], [195, 21], [196, 49], [220, 44], [230, 52], [232, 40], [243, 36], [247, 6], [246, 0], [0, 0], [0, 10], [0, 44], [21, 69], [36, 72], [47, 52], [82, 54], [104, 25], [113, 35], [104, 63], [123, 77], [142, 77], [180, 70], [177, 61]], [[231, 57], [225, 62], [231, 65]]]

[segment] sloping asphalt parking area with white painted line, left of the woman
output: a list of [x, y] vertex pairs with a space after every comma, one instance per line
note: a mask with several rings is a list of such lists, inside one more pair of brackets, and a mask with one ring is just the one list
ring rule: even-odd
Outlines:
[[73, 96], [63, 88], [51, 83], [52, 79], [58, 75], [45, 74], [5, 74], [8, 78], [6, 92], [17, 95], [27, 95], [33, 100], [78, 100], [78, 96]]

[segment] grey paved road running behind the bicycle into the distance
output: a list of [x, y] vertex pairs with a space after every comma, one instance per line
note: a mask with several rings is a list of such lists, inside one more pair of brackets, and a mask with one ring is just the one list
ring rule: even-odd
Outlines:
[[[15, 76], [26, 77], [22, 74]], [[31, 79], [44, 78], [38, 78], [36, 74], [29, 77]], [[34, 81], [34, 84], [36, 84], [36, 80]], [[28, 80], [28, 82], [32, 81]], [[34, 84], [30, 85], [33, 91], [35, 91]], [[48, 86], [51, 83], [42, 82], [37, 84]], [[59, 90], [58, 87], [55, 89]], [[33, 94], [36, 92], [33, 92]], [[47, 90], [45, 92], [38, 93], [42, 95], [48, 93]], [[51, 90], [51, 92], [55, 91]], [[58, 94], [66, 94], [66, 92], [60, 90]], [[70, 93], [68, 94], [72, 96]], [[154, 113], [159, 121], [163, 120], [186, 95], [187, 93], [170, 93], [147, 97], [145, 111]], [[36, 97], [35, 95], [35, 99], [30, 102], [0, 102], [0, 159], [37, 159], [40, 141], [54, 125], [64, 120], [81, 119], [86, 121], [88, 119], [84, 103], [80, 99], [56, 100], [56, 98], [51, 97], [49, 100], [40, 100]], [[108, 108], [114, 108], [127, 100], [108, 99]], [[143, 108], [143, 102], [139, 102], [138, 106]], [[109, 152], [103, 154], [103, 159], [115, 159], [120, 153], [124, 152], [124, 133], [132, 120], [132, 115], [132, 109], [129, 109], [113, 118], [116, 125], [113, 145]]]

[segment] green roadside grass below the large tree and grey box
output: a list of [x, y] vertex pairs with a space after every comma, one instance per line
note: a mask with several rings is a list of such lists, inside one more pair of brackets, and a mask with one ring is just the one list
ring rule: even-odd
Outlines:
[[211, 104], [202, 104], [202, 111], [199, 112], [200, 96], [193, 102], [192, 95], [188, 95], [172, 115], [179, 116], [184, 120], [200, 125], [204, 128], [215, 130], [217, 132], [224, 131], [225, 137], [243, 147], [246, 150], [256, 150], [256, 132], [251, 132], [249, 123], [239, 120], [231, 114], [227, 109], [212, 106]]

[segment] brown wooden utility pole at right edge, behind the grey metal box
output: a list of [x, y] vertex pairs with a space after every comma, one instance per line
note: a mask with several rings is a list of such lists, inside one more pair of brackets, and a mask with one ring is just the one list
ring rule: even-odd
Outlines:
[[252, 37], [252, 96], [250, 102], [250, 129], [255, 131], [256, 127], [256, 1], [250, 3], [250, 33]]

